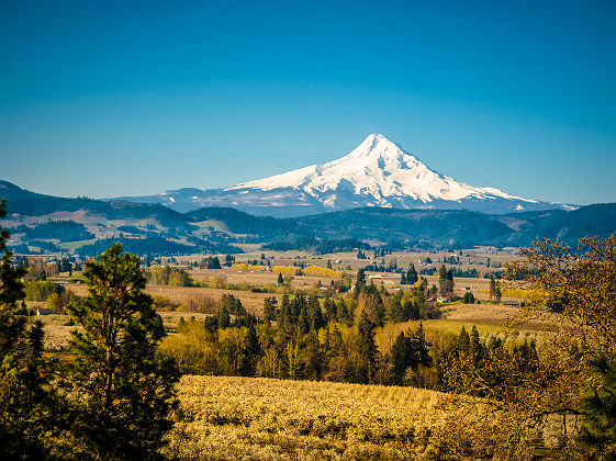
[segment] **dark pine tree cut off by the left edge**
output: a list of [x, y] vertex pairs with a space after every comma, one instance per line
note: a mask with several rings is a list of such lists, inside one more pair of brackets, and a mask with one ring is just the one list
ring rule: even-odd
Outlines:
[[[0, 217], [4, 214], [2, 201]], [[29, 327], [22, 312], [24, 271], [12, 265], [8, 238], [0, 229], [0, 459], [43, 459], [49, 456], [45, 440], [54, 427], [43, 326], [36, 322]]]

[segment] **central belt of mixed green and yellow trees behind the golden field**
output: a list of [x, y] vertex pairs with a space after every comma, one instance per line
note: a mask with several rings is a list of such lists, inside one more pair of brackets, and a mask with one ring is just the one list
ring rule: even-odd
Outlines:
[[[223, 295], [216, 315], [181, 322], [163, 344], [184, 373], [242, 374], [288, 379], [397, 384], [416, 382], [429, 368], [423, 327], [399, 335], [392, 351], [376, 345], [377, 328], [410, 319], [434, 318], [425, 283], [389, 294], [367, 284], [358, 271], [354, 296], [320, 300], [298, 293], [264, 300], [264, 317]], [[432, 371], [433, 375], [436, 372]]]

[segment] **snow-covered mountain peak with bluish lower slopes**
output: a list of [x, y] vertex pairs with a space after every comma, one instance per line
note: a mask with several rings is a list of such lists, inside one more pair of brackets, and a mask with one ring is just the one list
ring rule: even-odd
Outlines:
[[360, 206], [468, 209], [485, 213], [571, 209], [458, 182], [428, 168], [380, 134], [343, 158], [222, 189], [180, 189], [130, 200], [178, 211], [233, 206], [249, 213], [296, 216]]

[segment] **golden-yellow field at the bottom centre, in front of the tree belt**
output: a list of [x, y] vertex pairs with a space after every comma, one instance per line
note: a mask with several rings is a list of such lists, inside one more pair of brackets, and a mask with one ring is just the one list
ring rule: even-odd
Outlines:
[[[262, 378], [184, 375], [179, 459], [413, 459], [435, 450], [434, 391]], [[433, 453], [434, 454], [434, 453]]]

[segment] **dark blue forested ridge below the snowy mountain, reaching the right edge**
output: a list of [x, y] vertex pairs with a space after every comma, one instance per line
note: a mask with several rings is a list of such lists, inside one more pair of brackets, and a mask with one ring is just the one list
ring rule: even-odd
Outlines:
[[[616, 232], [616, 204], [595, 204], [575, 211], [491, 215], [466, 210], [354, 209], [277, 220], [233, 209], [206, 207], [187, 214], [191, 220], [225, 223], [232, 233], [250, 234], [262, 241], [314, 246], [322, 240], [377, 240], [403, 247], [474, 245], [526, 246], [537, 237], [560, 238], [574, 245], [587, 235]], [[289, 245], [280, 246], [288, 248]]]

